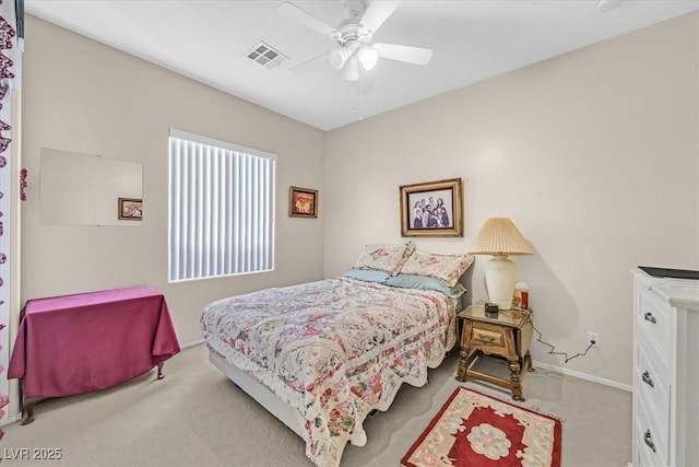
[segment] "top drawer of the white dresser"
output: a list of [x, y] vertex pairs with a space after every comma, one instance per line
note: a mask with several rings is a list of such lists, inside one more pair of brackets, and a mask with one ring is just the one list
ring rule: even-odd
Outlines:
[[671, 345], [674, 345], [671, 342], [670, 307], [643, 288], [637, 289], [636, 300], [636, 339], [656, 347], [657, 361], [668, 365]]

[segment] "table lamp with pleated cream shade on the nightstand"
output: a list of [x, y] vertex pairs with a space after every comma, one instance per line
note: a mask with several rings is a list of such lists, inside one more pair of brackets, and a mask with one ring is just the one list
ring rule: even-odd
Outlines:
[[534, 250], [508, 218], [490, 218], [469, 248], [474, 255], [493, 255], [485, 266], [485, 284], [489, 302], [499, 310], [512, 307], [517, 265], [510, 255], [533, 255]]

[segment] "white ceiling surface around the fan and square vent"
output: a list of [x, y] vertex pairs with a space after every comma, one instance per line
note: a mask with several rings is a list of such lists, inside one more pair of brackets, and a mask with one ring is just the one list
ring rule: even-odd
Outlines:
[[[426, 67], [380, 59], [348, 82], [323, 65], [288, 69], [334, 43], [280, 14], [279, 1], [25, 0], [25, 11], [321, 130], [330, 130], [699, 9], [699, 0], [406, 0], [374, 42], [427, 47]], [[293, 1], [336, 26], [344, 1]], [[260, 40], [289, 57], [268, 70]]]

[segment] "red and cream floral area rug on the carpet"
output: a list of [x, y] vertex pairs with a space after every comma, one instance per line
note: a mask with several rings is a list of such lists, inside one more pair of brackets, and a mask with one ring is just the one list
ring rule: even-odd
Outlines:
[[560, 420], [459, 387], [401, 465], [559, 467], [560, 437]]

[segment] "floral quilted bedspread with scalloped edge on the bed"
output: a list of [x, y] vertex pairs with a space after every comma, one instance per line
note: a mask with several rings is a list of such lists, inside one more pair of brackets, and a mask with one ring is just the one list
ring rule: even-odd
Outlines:
[[339, 277], [209, 304], [209, 348], [289, 404], [306, 455], [337, 466], [363, 422], [402, 383], [422, 386], [455, 341], [455, 301], [440, 292]]

